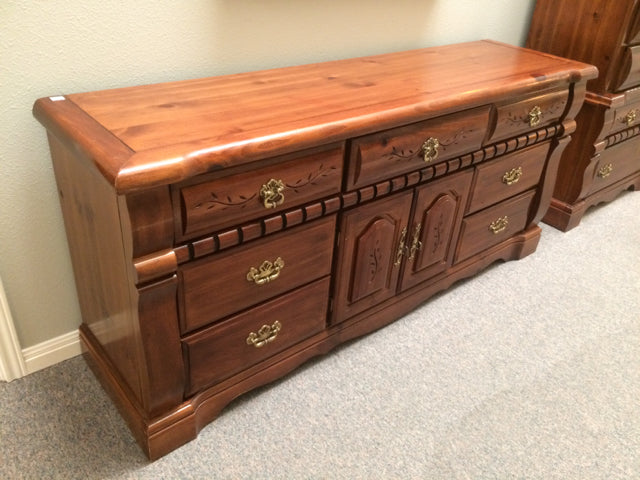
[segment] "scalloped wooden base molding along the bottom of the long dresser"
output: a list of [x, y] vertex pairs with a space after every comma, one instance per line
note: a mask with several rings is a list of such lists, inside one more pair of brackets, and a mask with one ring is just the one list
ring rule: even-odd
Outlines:
[[242, 374], [216, 384], [156, 418], [146, 418], [120, 378], [100, 342], [86, 324], [80, 326], [83, 356], [125, 419], [133, 437], [150, 460], [194, 440], [229, 403], [240, 395], [282, 378], [313, 357], [329, 353], [338, 345], [371, 333], [415, 310], [438, 292], [472, 277], [498, 261], [519, 260], [535, 252], [541, 229], [537, 225], [510, 237], [450, 269], [446, 274], [418, 285], [348, 321], [297, 345], [296, 349], [271, 357]]

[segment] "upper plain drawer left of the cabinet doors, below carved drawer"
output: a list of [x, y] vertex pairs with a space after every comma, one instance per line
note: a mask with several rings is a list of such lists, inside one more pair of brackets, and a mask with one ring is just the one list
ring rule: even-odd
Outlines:
[[192, 262], [180, 269], [188, 332], [331, 272], [335, 215]]

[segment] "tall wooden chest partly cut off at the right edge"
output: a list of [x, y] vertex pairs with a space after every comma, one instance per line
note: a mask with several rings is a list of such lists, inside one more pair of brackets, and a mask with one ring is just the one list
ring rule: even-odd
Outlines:
[[598, 67], [544, 221], [560, 230], [592, 205], [640, 189], [640, 1], [538, 0], [527, 46]]

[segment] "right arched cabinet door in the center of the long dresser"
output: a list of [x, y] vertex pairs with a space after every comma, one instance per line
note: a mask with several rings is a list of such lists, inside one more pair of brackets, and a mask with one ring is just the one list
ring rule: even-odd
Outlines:
[[417, 190], [402, 289], [451, 265], [472, 176], [473, 171], [468, 170]]

